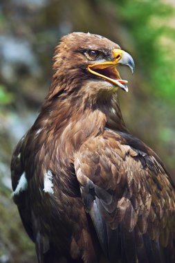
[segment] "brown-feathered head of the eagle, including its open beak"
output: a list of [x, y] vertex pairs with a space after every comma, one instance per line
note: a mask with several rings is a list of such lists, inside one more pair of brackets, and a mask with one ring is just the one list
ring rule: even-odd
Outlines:
[[[55, 50], [51, 96], [57, 93], [91, 90], [89, 94], [128, 91], [116, 67], [124, 64], [134, 71], [133, 58], [118, 44], [100, 35], [71, 33], [62, 37]], [[83, 85], [82, 85], [83, 84]]]

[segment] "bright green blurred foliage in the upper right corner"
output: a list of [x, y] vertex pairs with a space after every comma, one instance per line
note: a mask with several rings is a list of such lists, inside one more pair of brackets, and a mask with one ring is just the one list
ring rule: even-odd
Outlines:
[[148, 93], [174, 105], [175, 6], [160, 0], [111, 1], [120, 23], [133, 36]]

